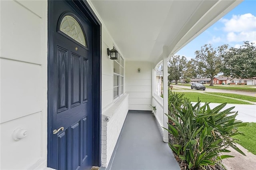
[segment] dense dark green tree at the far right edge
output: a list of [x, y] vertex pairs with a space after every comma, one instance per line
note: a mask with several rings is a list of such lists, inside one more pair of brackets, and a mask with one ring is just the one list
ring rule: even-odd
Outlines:
[[256, 77], [256, 46], [254, 43], [244, 42], [240, 48], [231, 47], [224, 55], [222, 67], [224, 75], [237, 78]]

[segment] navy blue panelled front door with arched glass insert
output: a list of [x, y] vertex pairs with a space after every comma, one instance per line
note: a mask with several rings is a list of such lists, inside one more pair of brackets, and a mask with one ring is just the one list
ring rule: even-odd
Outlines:
[[72, 2], [52, 1], [48, 167], [92, 167], [93, 26]]

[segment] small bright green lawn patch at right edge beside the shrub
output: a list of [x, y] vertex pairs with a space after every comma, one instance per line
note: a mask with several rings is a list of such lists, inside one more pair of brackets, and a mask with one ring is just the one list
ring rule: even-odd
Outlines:
[[236, 135], [234, 138], [244, 148], [256, 155], [256, 123], [248, 123], [245, 127], [238, 128], [239, 131], [244, 132], [244, 136]]

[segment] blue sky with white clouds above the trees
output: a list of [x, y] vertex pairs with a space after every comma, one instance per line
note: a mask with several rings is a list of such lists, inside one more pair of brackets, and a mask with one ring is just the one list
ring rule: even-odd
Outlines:
[[240, 47], [248, 40], [256, 45], [256, 0], [244, 0], [218, 22], [180, 49], [176, 55], [184, 55], [188, 60], [195, 57], [194, 52], [204, 44], [213, 47], [228, 44]]

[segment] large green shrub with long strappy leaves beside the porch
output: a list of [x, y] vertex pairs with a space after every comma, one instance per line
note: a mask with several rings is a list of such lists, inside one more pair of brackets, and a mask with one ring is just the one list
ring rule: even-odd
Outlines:
[[[173, 98], [180, 100], [180, 96], [175, 96]], [[233, 156], [220, 153], [230, 152], [227, 150], [230, 146], [245, 155], [236, 147], [232, 136], [242, 134], [238, 131], [238, 127], [246, 126], [246, 123], [236, 121], [238, 113], [230, 112], [234, 107], [220, 112], [225, 105], [226, 103], [223, 103], [210, 109], [209, 103], [200, 107], [198, 101], [193, 106], [185, 98], [183, 107], [175, 106], [170, 115], [166, 114], [174, 122], [168, 123], [169, 129], [166, 129], [174, 138], [174, 143], [168, 144], [176, 157], [187, 164], [187, 169], [215, 169], [216, 166], [225, 168], [221, 160]], [[171, 116], [172, 114], [175, 116]]]

